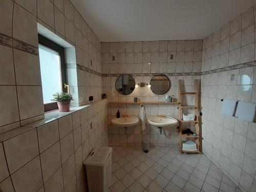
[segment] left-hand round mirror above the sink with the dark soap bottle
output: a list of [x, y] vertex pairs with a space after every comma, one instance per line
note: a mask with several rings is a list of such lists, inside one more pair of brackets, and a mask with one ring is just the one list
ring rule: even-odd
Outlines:
[[135, 89], [135, 80], [130, 75], [121, 75], [116, 80], [116, 90], [122, 95], [129, 95]]

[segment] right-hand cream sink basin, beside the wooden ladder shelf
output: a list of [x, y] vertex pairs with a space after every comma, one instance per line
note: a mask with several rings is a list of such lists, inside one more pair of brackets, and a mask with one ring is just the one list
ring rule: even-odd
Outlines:
[[178, 123], [177, 119], [169, 116], [165, 116], [161, 118], [157, 116], [148, 116], [147, 121], [151, 125], [157, 126], [157, 127], [174, 126]]

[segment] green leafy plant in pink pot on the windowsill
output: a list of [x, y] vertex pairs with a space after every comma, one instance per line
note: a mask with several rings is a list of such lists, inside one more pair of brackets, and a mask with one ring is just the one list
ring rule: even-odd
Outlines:
[[65, 92], [53, 94], [52, 99], [52, 101], [57, 101], [59, 112], [69, 112], [71, 100], [73, 100], [72, 95]]

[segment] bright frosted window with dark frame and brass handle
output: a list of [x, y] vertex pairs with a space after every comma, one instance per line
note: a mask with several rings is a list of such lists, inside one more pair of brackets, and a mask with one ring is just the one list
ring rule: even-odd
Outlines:
[[66, 91], [64, 88], [64, 83], [66, 83], [64, 48], [41, 35], [38, 35], [38, 41], [42, 96], [45, 112], [47, 112], [58, 109], [57, 103], [51, 101], [52, 95]]

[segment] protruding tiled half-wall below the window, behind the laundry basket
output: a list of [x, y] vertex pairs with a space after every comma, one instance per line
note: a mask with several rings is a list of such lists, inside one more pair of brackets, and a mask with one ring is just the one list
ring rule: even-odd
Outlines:
[[50, 112], [1, 134], [0, 190], [87, 191], [83, 160], [94, 147], [108, 145], [107, 106], [102, 100]]

